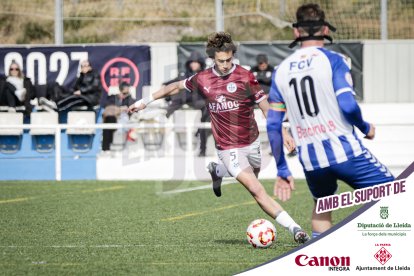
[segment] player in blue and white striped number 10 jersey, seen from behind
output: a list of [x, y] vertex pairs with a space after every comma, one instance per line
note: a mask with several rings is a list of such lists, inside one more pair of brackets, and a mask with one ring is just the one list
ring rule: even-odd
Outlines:
[[[271, 109], [267, 131], [277, 164], [275, 194], [282, 201], [290, 198], [294, 180], [283, 153], [282, 121], [287, 112], [299, 160], [315, 199], [332, 195], [337, 180], [354, 189], [392, 181], [388, 169], [364, 147], [354, 127], [366, 139], [375, 137], [375, 128], [365, 122], [354, 99], [350, 61], [329, 51], [324, 40], [332, 41], [324, 11], [317, 4], [304, 4], [293, 24], [300, 49], [275, 70], [269, 94]], [[316, 206], [316, 204], [315, 204]], [[332, 213], [312, 214], [313, 237], [332, 226]]]

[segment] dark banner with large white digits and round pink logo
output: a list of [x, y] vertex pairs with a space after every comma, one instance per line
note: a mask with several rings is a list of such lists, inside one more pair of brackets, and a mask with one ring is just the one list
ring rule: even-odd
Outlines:
[[141, 98], [142, 86], [151, 82], [149, 46], [42, 46], [0, 48], [0, 75], [7, 75], [16, 61], [35, 86], [57, 82], [67, 88], [74, 85], [80, 62], [89, 60], [99, 72], [102, 88], [127, 82]]

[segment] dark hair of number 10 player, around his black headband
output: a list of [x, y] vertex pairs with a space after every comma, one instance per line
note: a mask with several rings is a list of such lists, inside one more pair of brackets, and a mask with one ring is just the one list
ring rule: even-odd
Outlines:
[[[300, 6], [296, 11], [296, 22], [308, 21], [325, 21], [325, 12], [318, 4], [308, 3]], [[307, 34], [314, 34], [322, 30], [324, 25], [320, 26], [301, 26], [299, 31]]]

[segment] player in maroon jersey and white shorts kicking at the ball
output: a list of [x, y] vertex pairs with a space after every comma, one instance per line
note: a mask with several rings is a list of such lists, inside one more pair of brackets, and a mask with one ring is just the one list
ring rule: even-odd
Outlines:
[[210, 112], [212, 132], [221, 161], [220, 164], [210, 163], [208, 166], [216, 196], [221, 195], [220, 185], [223, 176], [230, 174], [250, 192], [269, 216], [293, 234], [295, 241], [304, 243], [309, 240], [309, 236], [282, 206], [267, 194], [257, 178], [261, 155], [259, 131], [253, 108], [258, 104], [266, 116], [269, 103], [254, 75], [233, 63], [236, 50], [230, 34], [211, 34], [208, 37], [206, 52], [214, 59], [212, 68], [161, 88], [148, 98], [131, 105], [129, 112], [142, 110], [152, 101], [177, 94], [183, 88], [192, 93], [199, 93], [205, 98]]

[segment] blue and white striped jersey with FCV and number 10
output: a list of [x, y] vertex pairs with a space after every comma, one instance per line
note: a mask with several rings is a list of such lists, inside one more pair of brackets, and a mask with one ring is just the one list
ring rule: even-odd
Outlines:
[[342, 163], [365, 152], [338, 103], [337, 97], [343, 93], [355, 94], [350, 63], [345, 56], [325, 48], [298, 49], [274, 73], [269, 102], [282, 111], [286, 107], [306, 171]]

